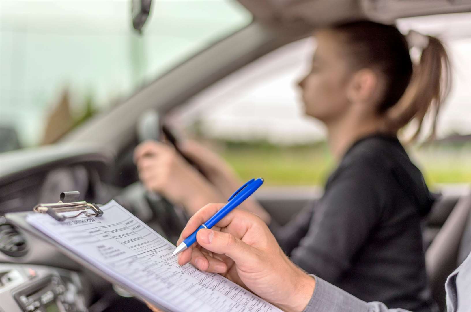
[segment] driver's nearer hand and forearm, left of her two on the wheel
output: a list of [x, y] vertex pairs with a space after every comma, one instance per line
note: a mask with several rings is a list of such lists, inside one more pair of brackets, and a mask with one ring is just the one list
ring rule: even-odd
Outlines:
[[134, 162], [146, 189], [184, 205], [190, 214], [208, 202], [223, 200], [219, 191], [171, 146], [145, 141], [134, 150]]

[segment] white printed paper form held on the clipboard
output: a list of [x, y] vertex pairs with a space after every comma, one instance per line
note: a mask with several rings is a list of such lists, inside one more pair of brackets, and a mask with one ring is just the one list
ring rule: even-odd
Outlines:
[[26, 221], [130, 291], [171, 311], [281, 311], [219, 274], [180, 266], [175, 246], [115, 201], [101, 217], [59, 222], [34, 213]]

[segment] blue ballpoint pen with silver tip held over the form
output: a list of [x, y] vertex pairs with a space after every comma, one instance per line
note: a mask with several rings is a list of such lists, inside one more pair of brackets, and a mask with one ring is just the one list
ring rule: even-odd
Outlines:
[[204, 222], [203, 225], [200, 225], [198, 229], [196, 229], [193, 234], [185, 238], [183, 242], [175, 249], [172, 256], [178, 255], [182, 251], [191, 246], [196, 241], [196, 233], [201, 229], [211, 229], [216, 223], [218, 223], [222, 218], [224, 218], [227, 213], [230, 213], [232, 209], [237, 207], [238, 205], [242, 204], [242, 202], [247, 199], [247, 197], [251, 196], [253, 192], [255, 192], [260, 186], [263, 184], [263, 178], [252, 179], [241, 186], [238, 190], [232, 194], [229, 199], [227, 199], [227, 204], [224, 205], [217, 213], [215, 213], [208, 221]]

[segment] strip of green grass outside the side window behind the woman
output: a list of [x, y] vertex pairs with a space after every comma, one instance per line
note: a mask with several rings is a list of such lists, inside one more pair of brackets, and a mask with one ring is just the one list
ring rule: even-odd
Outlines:
[[[421, 150], [411, 154], [431, 188], [437, 183], [471, 183], [471, 151]], [[324, 185], [335, 166], [325, 145], [294, 148], [230, 145], [222, 156], [243, 180], [260, 176], [271, 186]]]

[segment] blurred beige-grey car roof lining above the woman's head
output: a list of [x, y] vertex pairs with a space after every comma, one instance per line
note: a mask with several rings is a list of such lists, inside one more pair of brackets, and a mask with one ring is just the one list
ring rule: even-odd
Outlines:
[[[238, 0], [260, 23], [272, 27], [325, 26], [370, 19], [392, 24], [397, 18], [469, 12], [465, 0]], [[335, 8], [335, 9], [333, 9]]]

